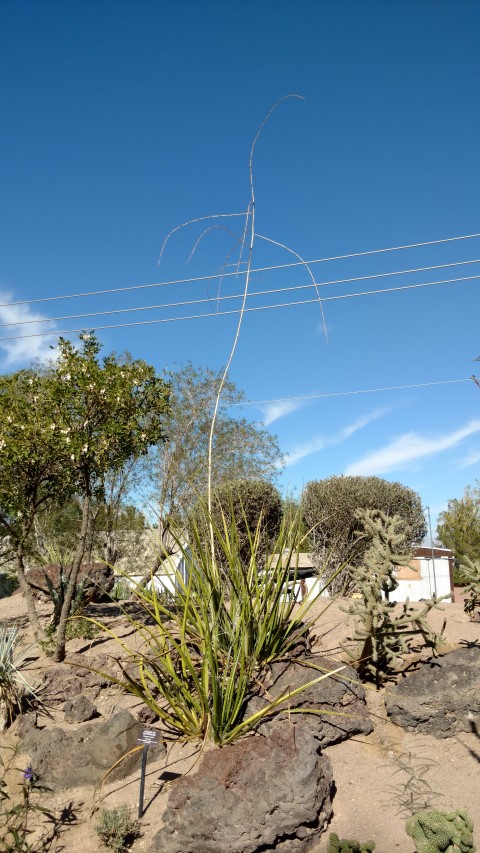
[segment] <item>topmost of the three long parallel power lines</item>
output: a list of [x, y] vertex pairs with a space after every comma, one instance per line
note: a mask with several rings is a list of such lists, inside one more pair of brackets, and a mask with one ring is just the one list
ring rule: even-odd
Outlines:
[[[423, 241], [421, 243], [407, 243], [403, 246], [389, 246], [389, 247], [383, 248], [383, 249], [370, 249], [370, 250], [364, 251], [364, 252], [349, 252], [348, 254], [344, 254], [344, 255], [332, 255], [331, 257], [328, 257], [328, 258], [317, 258], [313, 261], [298, 261], [298, 262], [291, 262], [288, 264], [275, 264], [275, 265], [267, 266], [267, 267], [255, 267], [254, 269], [250, 270], [250, 274], [253, 275], [254, 273], [259, 273], [259, 272], [270, 272], [273, 270], [289, 269], [292, 267], [306, 266], [307, 264], [310, 266], [312, 264], [324, 264], [324, 263], [327, 263], [329, 261], [341, 261], [341, 260], [346, 260], [348, 258], [361, 258], [361, 257], [366, 257], [368, 255], [385, 254], [387, 252], [399, 252], [399, 251], [403, 251], [405, 249], [418, 249], [418, 248], [421, 248], [423, 246], [438, 246], [438, 245], [443, 244], [443, 243], [454, 243], [454, 242], [457, 242], [459, 240], [472, 240], [472, 239], [475, 239], [476, 237], [480, 237], [480, 233], [478, 233], [478, 234], [463, 234], [459, 237], [445, 237], [442, 240], [426, 240], [426, 241]], [[40, 302], [54, 302], [54, 301], [60, 300], [60, 299], [80, 299], [80, 298], [87, 297], [87, 296], [102, 296], [102, 295], [109, 294], [109, 293], [126, 293], [127, 291], [145, 290], [145, 289], [148, 289], [151, 287], [166, 287], [167, 285], [173, 285], [173, 284], [189, 284], [189, 283], [193, 283], [193, 282], [197, 282], [197, 281], [211, 281], [213, 279], [224, 279], [224, 278], [229, 278], [232, 276], [238, 276], [241, 274], [242, 273], [239, 273], [238, 270], [235, 270], [235, 272], [223, 272], [223, 273], [214, 273], [212, 275], [195, 276], [192, 278], [172, 279], [170, 281], [154, 282], [152, 284], [134, 284], [134, 285], [130, 285], [127, 287], [114, 287], [114, 288], [108, 288], [108, 289], [104, 289], [104, 290], [89, 290], [89, 291], [85, 291], [84, 293], [64, 293], [64, 294], [60, 294], [59, 296], [42, 296], [42, 297], [37, 297], [36, 299], [22, 299], [22, 300], [18, 300], [16, 302], [3, 302], [3, 303], [0, 303], [0, 308], [6, 308], [9, 306], [13, 306], [13, 305], [34, 305], [34, 304], [37, 304]]]

